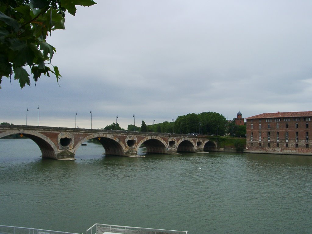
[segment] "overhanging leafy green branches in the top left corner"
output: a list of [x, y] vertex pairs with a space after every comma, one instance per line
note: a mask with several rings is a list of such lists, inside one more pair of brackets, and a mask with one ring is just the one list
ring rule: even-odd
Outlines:
[[[60, 79], [58, 67], [51, 65], [56, 49], [46, 42], [48, 33], [65, 29], [65, 13], [75, 15], [76, 6], [91, 6], [92, 0], [2, 0], [0, 2], [0, 84], [2, 77], [18, 80], [21, 88], [30, 85], [25, 66], [35, 83], [50, 72]], [[48, 65], [48, 66], [47, 66]], [[0, 86], [1, 88], [1, 86]]]

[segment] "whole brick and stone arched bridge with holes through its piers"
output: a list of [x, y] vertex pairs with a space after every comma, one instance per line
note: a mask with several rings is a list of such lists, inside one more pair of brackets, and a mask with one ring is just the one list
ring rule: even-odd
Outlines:
[[0, 125], [0, 138], [20, 134], [32, 139], [40, 148], [42, 158], [75, 159], [82, 143], [97, 139], [105, 154], [138, 157], [142, 144], [147, 153], [176, 154], [177, 152], [202, 152], [214, 150], [217, 143], [209, 136], [168, 134], [102, 129], [78, 129], [27, 125]]

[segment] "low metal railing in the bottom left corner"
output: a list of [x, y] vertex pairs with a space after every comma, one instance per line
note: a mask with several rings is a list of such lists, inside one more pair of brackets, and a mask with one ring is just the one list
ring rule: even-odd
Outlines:
[[12, 227], [0, 225], [0, 234], [78, 234], [72, 232], [58, 232], [27, 227]]

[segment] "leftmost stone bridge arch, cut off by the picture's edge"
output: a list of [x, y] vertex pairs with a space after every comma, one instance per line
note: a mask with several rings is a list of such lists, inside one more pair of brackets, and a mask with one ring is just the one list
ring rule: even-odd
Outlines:
[[45, 135], [38, 133], [35, 130], [27, 129], [10, 129], [0, 133], [0, 138], [6, 137], [12, 134], [22, 134], [29, 139], [32, 139], [38, 146], [41, 151], [42, 158], [53, 158], [57, 159], [58, 149], [56, 145]]

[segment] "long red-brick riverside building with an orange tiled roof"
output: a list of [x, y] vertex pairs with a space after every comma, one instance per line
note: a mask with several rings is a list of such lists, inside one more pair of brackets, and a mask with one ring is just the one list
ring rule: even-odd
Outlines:
[[246, 151], [312, 155], [312, 112], [263, 113], [246, 119]]

